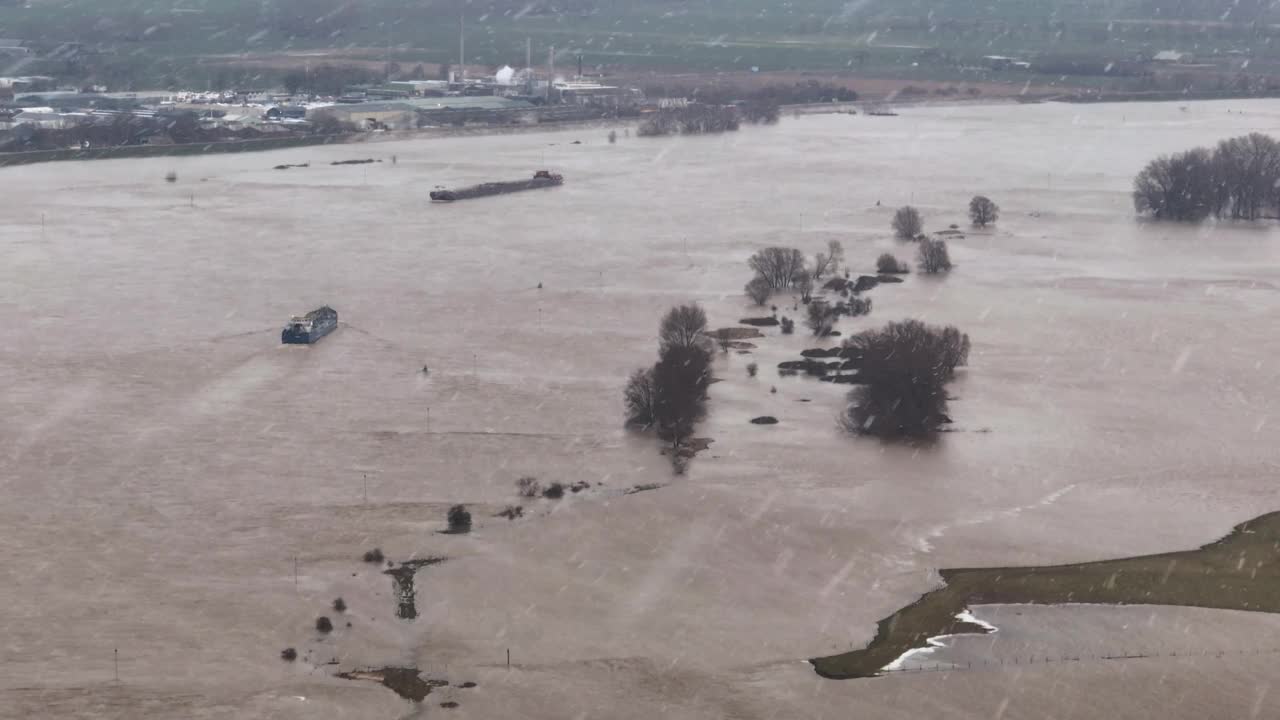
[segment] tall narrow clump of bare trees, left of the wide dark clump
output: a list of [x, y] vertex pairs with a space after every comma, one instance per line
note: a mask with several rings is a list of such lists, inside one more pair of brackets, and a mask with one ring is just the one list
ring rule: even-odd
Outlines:
[[634, 372], [623, 389], [627, 425], [654, 429], [680, 448], [707, 415], [710, 361], [707, 313], [698, 305], [672, 307], [658, 329], [658, 361]]

